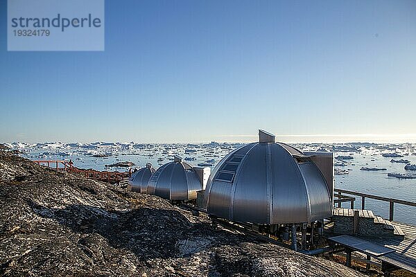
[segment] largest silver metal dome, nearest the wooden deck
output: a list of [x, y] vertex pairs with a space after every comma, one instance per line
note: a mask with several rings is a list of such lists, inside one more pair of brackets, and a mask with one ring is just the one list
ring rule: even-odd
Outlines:
[[230, 152], [214, 168], [205, 201], [210, 215], [227, 220], [304, 223], [332, 215], [331, 189], [309, 156], [259, 130], [259, 142]]

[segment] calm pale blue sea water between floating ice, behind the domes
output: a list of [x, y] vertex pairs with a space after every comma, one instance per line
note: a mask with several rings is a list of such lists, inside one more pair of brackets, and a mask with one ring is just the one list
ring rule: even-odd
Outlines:
[[[300, 150], [316, 150], [311, 148], [311, 145], [297, 145]], [[188, 161], [196, 165], [207, 160], [214, 159], [214, 165], [220, 161], [230, 149], [215, 148], [200, 148], [196, 153], [185, 154], [185, 148], [173, 148], [166, 153], [166, 149], [159, 147], [152, 150], [117, 150], [113, 151], [111, 157], [96, 158], [83, 154], [82, 151], [76, 149], [60, 149], [60, 150], [31, 150], [30, 152], [23, 154], [23, 157], [27, 157], [33, 160], [39, 159], [72, 159], [74, 166], [78, 168], [93, 168], [95, 170], [109, 170], [109, 171], [125, 171], [125, 168], [106, 168], [105, 165], [116, 163], [119, 161], [132, 161], [136, 164], [135, 167], [143, 167], [146, 163], [150, 162], [155, 168], [159, 167], [163, 163], [167, 163], [173, 160], [173, 154], [180, 154], [184, 157], [196, 158], [195, 161]], [[62, 157], [57, 154], [44, 154], [47, 152], [67, 152], [70, 156]], [[335, 187], [343, 188], [345, 190], [353, 190], [361, 193], [367, 193], [372, 195], [378, 195], [383, 197], [404, 199], [411, 202], [416, 202], [416, 179], [397, 179], [396, 177], [388, 177], [388, 172], [395, 173], [409, 173], [408, 170], [404, 170], [404, 163], [391, 163], [391, 159], [408, 159], [411, 163], [416, 163], [415, 153], [408, 153], [401, 158], [387, 158], [382, 157], [381, 152], [383, 150], [372, 148], [361, 148], [358, 152], [335, 152], [334, 156], [339, 155], [351, 155], [354, 157], [352, 160], [345, 161], [346, 166], [340, 167], [342, 169], [349, 170], [348, 175], [335, 175]], [[391, 151], [390, 151], [391, 152]], [[41, 156], [39, 156], [41, 154]], [[158, 161], [159, 158], [164, 159]], [[387, 168], [384, 171], [363, 171], [361, 167], [376, 167]], [[411, 172], [411, 171], [410, 171]], [[413, 171], [413, 173], [416, 173]], [[373, 199], [365, 199], [365, 208], [374, 211], [374, 214], [381, 215], [383, 218], [388, 218], [389, 204], [387, 202], [380, 202]], [[343, 207], [349, 208], [349, 203], [344, 203]], [[361, 208], [361, 198], [356, 197], [356, 208]], [[406, 222], [408, 224], [416, 225], [416, 207], [404, 206], [401, 204], [395, 204], [395, 220], [400, 222]]]

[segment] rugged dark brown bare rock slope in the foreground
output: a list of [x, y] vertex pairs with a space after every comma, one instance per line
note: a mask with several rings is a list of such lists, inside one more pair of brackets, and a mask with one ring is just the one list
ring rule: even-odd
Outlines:
[[1, 276], [361, 276], [0, 150]]

